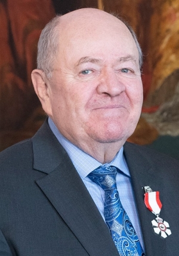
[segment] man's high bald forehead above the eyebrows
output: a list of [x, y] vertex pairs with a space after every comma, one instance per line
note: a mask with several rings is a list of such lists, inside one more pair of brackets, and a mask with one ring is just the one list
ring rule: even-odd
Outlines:
[[138, 55], [137, 47], [128, 28], [118, 18], [103, 11], [81, 16], [61, 17], [59, 28], [60, 57], [82, 58], [87, 55], [125, 57]]

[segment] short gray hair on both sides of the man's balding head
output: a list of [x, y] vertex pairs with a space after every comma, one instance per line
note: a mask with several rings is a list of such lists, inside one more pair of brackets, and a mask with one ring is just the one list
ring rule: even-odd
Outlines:
[[[134, 30], [131, 26], [129, 26], [128, 23], [126, 23], [126, 21], [122, 20], [118, 14], [112, 15], [121, 20], [126, 25], [126, 27], [128, 27], [129, 32], [131, 32], [132, 38], [134, 38], [135, 44], [137, 46], [139, 65], [141, 69], [143, 64], [143, 54]], [[60, 23], [60, 17], [61, 15], [57, 15], [44, 27], [38, 42], [37, 68], [41, 69], [45, 73], [47, 79], [50, 79], [52, 76], [53, 63], [55, 56], [57, 55], [59, 43], [59, 35], [57, 33], [57, 29], [58, 24]]]

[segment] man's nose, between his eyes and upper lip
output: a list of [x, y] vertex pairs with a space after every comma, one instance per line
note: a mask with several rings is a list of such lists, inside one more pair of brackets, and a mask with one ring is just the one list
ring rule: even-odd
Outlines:
[[119, 74], [114, 70], [105, 70], [101, 73], [100, 81], [97, 86], [98, 94], [107, 94], [110, 97], [115, 97], [125, 91], [124, 79], [119, 77]]

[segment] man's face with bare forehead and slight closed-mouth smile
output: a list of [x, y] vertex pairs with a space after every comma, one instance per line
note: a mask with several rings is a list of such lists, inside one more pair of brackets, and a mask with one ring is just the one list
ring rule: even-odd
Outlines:
[[60, 44], [50, 81], [48, 115], [81, 149], [124, 141], [143, 101], [138, 51], [126, 26], [109, 14], [61, 18]]

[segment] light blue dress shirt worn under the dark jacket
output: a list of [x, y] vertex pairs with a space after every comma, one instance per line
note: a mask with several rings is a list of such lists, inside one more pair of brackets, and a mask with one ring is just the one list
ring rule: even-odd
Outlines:
[[[92, 172], [94, 169], [98, 168], [102, 164], [96, 159], [92, 158], [92, 156], [88, 155], [87, 153], [83, 152], [81, 149], [70, 143], [70, 141], [67, 140], [65, 137], [63, 137], [63, 135], [60, 134], [57, 127], [55, 127], [54, 122], [50, 118], [48, 118], [48, 124], [50, 125], [50, 128], [53, 131], [55, 137], [57, 137], [57, 140], [60, 142], [60, 144], [64, 147], [67, 154], [69, 155], [71, 161], [73, 162], [73, 165], [76, 168], [76, 171], [78, 171], [80, 177], [82, 178], [82, 181], [87, 187], [92, 199], [94, 200], [98, 210], [100, 211], [101, 216], [104, 219], [104, 190], [87, 177], [90, 172]], [[140, 223], [138, 220], [137, 209], [135, 206], [134, 195], [132, 191], [131, 177], [124, 158], [123, 147], [116, 154], [112, 162], [106, 165], [116, 166], [120, 170], [116, 175], [116, 184], [119, 192], [119, 197], [126, 213], [128, 214], [132, 222], [132, 225], [134, 226], [141, 246], [144, 249]]]

